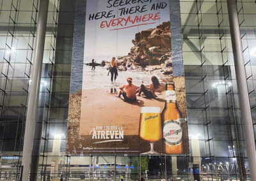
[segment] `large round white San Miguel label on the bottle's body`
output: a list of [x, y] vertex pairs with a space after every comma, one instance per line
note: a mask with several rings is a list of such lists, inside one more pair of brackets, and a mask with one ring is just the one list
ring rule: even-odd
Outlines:
[[163, 126], [163, 139], [169, 145], [177, 145], [182, 141], [182, 126], [178, 120], [166, 120]]

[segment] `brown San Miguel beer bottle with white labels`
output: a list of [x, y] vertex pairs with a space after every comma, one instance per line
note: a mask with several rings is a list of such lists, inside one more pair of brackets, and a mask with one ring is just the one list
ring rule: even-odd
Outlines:
[[174, 83], [166, 83], [163, 116], [163, 140], [166, 154], [182, 154], [182, 115], [176, 103]]

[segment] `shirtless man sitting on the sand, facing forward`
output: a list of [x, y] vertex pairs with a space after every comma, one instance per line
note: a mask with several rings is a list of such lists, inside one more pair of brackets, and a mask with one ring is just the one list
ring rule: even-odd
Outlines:
[[135, 102], [137, 100], [136, 99], [137, 87], [132, 84], [131, 77], [127, 78], [127, 82], [128, 82], [127, 85], [123, 85], [119, 87], [120, 91], [118, 92], [116, 97], [120, 98], [120, 96], [122, 95], [124, 97], [125, 102]]

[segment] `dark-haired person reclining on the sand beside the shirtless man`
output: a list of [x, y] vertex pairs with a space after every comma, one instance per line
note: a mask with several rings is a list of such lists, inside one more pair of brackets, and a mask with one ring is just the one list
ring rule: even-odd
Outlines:
[[157, 96], [155, 92], [160, 87], [160, 83], [156, 76], [151, 77], [151, 82], [152, 83], [150, 83], [149, 86], [141, 84], [140, 88], [137, 91], [138, 92], [137, 96], [140, 96], [141, 92], [143, 92], [146, 98], [156, 98]]

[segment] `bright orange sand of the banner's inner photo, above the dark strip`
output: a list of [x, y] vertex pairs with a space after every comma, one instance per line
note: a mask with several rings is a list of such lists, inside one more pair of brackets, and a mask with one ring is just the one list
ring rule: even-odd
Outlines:
[[164, 92], [156, 94], [157, 99], [137, 96], [136, 103], [125, 103], [111, 94], [110, 89], [83, 89], [80, 134], [89, 135], [95, 126], [122, 126], [125, 135], [138, 135], [141, 107], [164, 108]]

